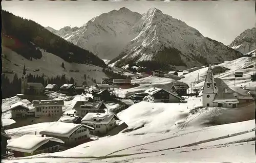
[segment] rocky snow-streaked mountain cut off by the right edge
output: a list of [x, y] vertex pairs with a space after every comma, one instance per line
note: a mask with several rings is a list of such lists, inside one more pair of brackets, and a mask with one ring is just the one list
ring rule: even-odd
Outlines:
[[239, 36], [237, 36], [234, 41], [231, 42], [229, 47], [242, 52], [243, 54], [253, 52], [256, 49], [256, 28], [247, 29]]

